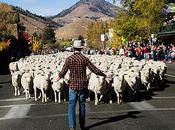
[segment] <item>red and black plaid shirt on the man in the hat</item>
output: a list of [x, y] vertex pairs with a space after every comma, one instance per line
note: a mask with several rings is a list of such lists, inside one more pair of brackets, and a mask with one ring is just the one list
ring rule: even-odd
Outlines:
[[80, 52], [74, 52], [74, 54], [66, 59], [63, 68], [59, 73], [59, 77], [64, 77], [67, 71], [70, 70], [69, 76], [71, 89], [82, 90], [88, 86], [86, 67], [97, 75], [106, 76], [101, 70], [93, 65], [87, 57]]

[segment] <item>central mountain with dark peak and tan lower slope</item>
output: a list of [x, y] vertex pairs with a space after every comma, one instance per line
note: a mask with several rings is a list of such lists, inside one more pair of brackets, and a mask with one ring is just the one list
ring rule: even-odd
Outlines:
[[[85, 34], [85, 27], [88, 23], [95, 20], [107, 21], [113, 19], [118, 9], [119, 7], [105, 0], [80, 0], [70, 8], [50, 17], [50, 19], [63, 26], [56, 30], [58, 39], [75, 38], [75, 36]], [[72, 33], [74, 35], [71, 35]]]

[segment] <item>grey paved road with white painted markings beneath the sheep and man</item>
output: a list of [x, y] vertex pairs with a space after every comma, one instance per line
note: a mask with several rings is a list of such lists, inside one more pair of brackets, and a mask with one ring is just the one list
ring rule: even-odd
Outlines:
[[[166, 84], [154, 91], [152, 98], [142, 95], [141, 101], [122, 105], [88, 102], [88, 129], [175, 130], [174, 67], [168, 64]], [[10, 76], [0, 75], [0, 130], [68, 130], [67, 106], [68, 102], [41, 103], [25, 100], [24, 95], [14, 97]]]

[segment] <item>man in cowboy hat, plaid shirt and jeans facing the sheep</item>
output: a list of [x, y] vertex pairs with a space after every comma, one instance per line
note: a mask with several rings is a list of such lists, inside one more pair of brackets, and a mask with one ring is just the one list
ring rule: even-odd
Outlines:
[[75, 130], [76, 127], [76, 103], [79, 102], [79, 125], [81, 130], [85, 130], [85, 102], [86, 102], [86, 90], [88, 86], [88, 80], [86, 76], [86, 67], [97, 75], [106, 75], [93, 65], [90, 60], [81, 54], [81, 50], [84, 48], [83, 42], [75, 40], [73, 44], [74, 53], [69, 56], [59, 73], [60, 78], [64, 77], [67, 71], [70, 71], [70, 84], [69, 84], [69, 128]]

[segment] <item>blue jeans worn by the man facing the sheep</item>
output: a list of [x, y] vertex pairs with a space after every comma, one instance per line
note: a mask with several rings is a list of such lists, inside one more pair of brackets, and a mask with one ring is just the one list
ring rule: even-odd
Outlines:
[[76, 103], [79, 102], [79, 125], [81, 129], [85, 128], [85, 90], [75, 91], [69, 87], [69, 128], [76, 126]]

